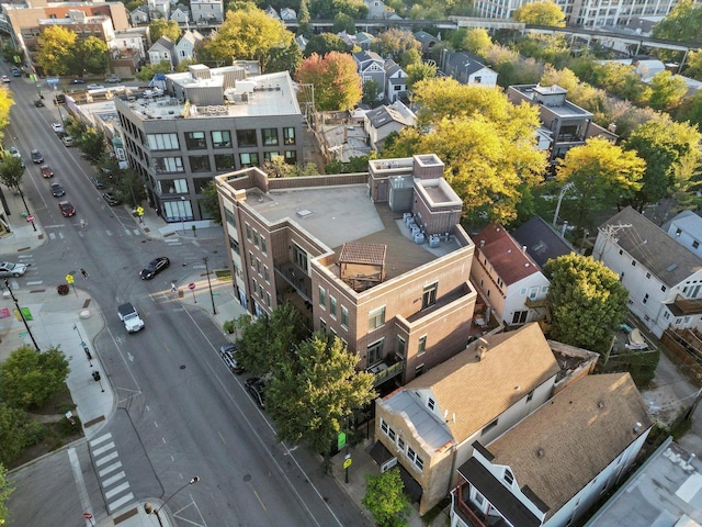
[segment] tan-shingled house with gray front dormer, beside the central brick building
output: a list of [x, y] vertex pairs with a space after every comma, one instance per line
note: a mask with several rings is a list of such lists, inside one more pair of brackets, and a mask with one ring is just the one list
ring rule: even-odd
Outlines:
[[489, 444], [545, 403], [559, 371], [537, 324], [483, 337], [375, 401], [371, 455], [381, 471], [401, 467], [423, 515], [455, 486], [473, 444]]

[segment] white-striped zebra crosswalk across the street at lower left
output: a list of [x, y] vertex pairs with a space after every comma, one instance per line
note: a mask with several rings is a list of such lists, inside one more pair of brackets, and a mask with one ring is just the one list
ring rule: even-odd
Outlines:
[[129, 482], [124, 470], [121, 470], [122, 461], [120, 461], [120, 453], [112, 440], [112, 434], [103, 434], [92, 439], [88, 445], [98, 471], [100, 487], [105, 496], [107, 512], [112, 514], [134, 502], [134, 494], [129, 492]]

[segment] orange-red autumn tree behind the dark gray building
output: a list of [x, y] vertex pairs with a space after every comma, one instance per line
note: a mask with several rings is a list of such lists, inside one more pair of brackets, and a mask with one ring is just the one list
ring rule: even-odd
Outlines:
[[350, 110], [363, 96], [361, 77], [351, 55], [331, 52], [307, 57], [297, 69], [297, 81], [314, 85], [319, 111]]

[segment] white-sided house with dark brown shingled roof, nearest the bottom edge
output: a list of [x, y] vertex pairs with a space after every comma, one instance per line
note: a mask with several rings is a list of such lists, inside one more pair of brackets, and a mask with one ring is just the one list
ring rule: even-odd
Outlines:
[[580, 378], [497, 439], [473, 442], [451, 526], [570, 526], [626, 478], [652, 428], [629, 373]]

